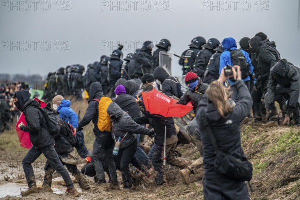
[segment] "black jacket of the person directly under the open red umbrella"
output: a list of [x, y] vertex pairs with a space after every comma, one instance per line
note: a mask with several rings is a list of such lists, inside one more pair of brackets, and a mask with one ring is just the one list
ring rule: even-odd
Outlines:
[[[138, 124], [150, 124], [154, 128], [155, 132], [155, 144], [158, 146], [164, 145], [164, 127], [166, 125], [166, 139], [171, 136], [177, 138], [174, 119], [172, 117], [162, 117], [155, 114], [150, 114], [146, 111], [146, 108], [142, 102], [139, 103], [140, 110], [143, 112], [143, 117], [134, 118], [133, 120]], [[168, 141], [167, 141], [168, 142]], [[171, 141], [170, 141], [171, 142]], [[175, 141], [177, 142], [177, 140]], [[166, 143], [172, 144], [172, 143]]]

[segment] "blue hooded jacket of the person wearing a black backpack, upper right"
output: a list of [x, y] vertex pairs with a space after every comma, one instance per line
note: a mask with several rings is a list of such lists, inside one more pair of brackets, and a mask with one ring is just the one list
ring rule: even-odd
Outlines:
[[[235, 39], [233, 39], [232, 37], [225, 38], [223, 40], [222, 44], [223, 44], [223, 48], [224, 48], [225, 52], [223, 52], [221, 54], [221, 56], [220, 56], [220, 70], [219, 70], [219, 74], [221, 74], [222, 69], [225, 66], [227, 66], [227, 65], [232, 66], [231, 56], [230, 56], [230, 51], [229, 50], [236, 50], [237, 49]], [[246, 58], [246, 61], [249, 64], [250, 74], [254, 74], [254, 72], [253, 72], [253, 66], [252, 66], [251, 59], [249, 58], [248, 53], [246, 51], [244, 51], [244, 50], [241, 50], [241, 52], [244, 54], [244, 56]], [[242, 81], [249, 81], [249, 80], [250, 80], [250, 76], [242, 79]], [[230, 82], [231, 85], [234, 84], [234, 82], [231, 82], [230, 80], [229, 80], [229, 82]]]

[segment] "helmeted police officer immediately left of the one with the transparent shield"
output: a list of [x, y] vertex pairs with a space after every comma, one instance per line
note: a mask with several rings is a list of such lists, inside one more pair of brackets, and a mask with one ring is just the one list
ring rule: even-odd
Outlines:
[[152, 74], [155, 67], [155, 61], [152, 56], [152, 49], [154, 43], [152, 41], [145, 41], [142, 44], [140, 51], [136, 54], [136, 60], [138, 61], [143, 74]]

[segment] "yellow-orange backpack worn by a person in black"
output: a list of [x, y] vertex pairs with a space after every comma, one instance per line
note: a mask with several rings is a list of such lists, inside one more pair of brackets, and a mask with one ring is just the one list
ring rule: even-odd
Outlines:
[[[107, 108], [112, 103], [111, 98], [102, 96], [100, 100], [93, 99], [94, 101], [97, 101], [99, 103], [98, 105], [98, 128], [101, 132], [107, 131], [111, 132], [111, 120], [110, 116], [107, 114]], [[92, 101], [93, 101], [92, 100]]]

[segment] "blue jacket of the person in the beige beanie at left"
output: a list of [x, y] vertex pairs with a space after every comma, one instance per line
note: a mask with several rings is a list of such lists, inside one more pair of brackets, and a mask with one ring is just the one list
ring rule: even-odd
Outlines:
[[71, 101], [69, 100], [62, 100], [61, 104], [57, 108], [57, 111], [59, 112], [59, 117], [64, 120], [65, 122], [71, 124], [73, 128], [78, 127], [78, 115], [76, 112], [70, 108]]

